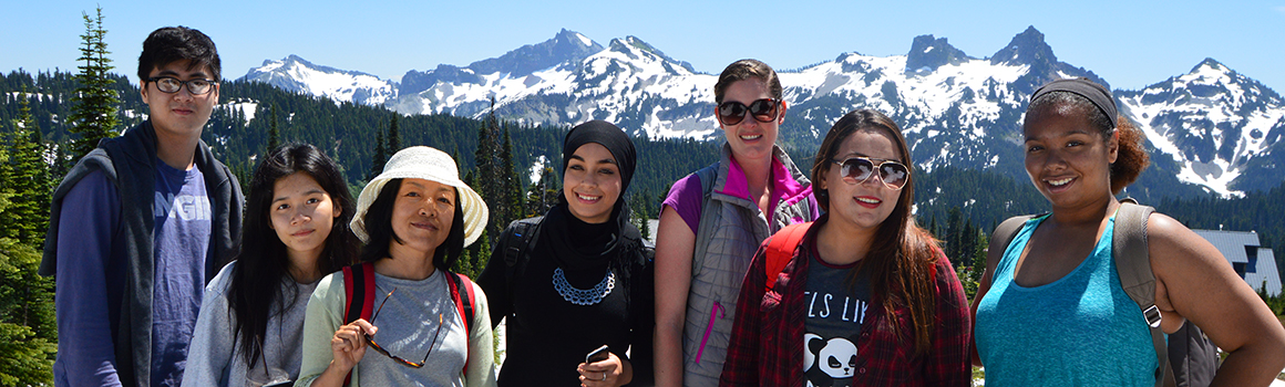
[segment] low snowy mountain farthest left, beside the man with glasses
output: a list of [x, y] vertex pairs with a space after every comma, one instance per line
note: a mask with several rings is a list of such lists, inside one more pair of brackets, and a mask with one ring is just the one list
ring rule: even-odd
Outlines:
[[263, 65], [252, 68], [242, 79], [366, 105], [383, 105], [397, 97], [396, 82], [368, 73], [316, 65], [296, 55], [281, 60], [263, 60]]

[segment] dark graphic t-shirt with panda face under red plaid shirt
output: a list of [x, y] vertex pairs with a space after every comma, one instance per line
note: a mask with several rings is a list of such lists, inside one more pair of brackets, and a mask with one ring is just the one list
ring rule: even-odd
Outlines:
[[816, 245], [803, 284], [803, 374], [807, 386], [852, 386], [857, 363], [857, 337], [870, 305], [870, 276], [857, 264], [831, 265], [820, 259]]

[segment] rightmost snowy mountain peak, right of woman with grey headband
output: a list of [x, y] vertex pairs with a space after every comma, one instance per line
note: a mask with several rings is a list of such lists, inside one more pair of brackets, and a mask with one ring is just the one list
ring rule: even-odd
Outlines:
[[1205, 59], [1186, 74], [1115, 96], [1148, 140], [1181, 165], [1180, 179], [1223, 195], [1280, 185], [1285, 101], [1258, 81]]

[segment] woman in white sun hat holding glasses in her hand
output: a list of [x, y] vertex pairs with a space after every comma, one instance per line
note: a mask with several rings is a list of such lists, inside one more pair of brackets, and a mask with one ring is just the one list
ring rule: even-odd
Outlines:
[[495, 386], [486, 295], [448, 269], [486, 222], [446, 152], [389, 158], [352, 220], [364, 264], [323, 278], [308, 302], [297, 386]]

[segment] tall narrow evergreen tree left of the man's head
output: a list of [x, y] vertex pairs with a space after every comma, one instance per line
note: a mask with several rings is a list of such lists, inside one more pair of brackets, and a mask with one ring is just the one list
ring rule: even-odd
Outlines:
[[112, 59], [107, 58], [111, 51], [104, 40], [107, 29], [103, 29], [103, 8], [98, 8], [95, 18], [86, 13], [81, 13], [81, 17], [85, 18], [85, 35], [81, 35], [81, 58], [77, 60], [85, 64], [77, 67], [80, 73], [76, 74], [76, 82], [80, 86], [72, 96], [75, 108], [71, 114], [71, 132], [80, 136], [72, 145], [76, 159], [94, 150], [99, 140], [114, 137], [116, 127], [120, 126], [116, 117], [120, 100], [112, 88], [116, 81], [108, 74], [113, 67]]

